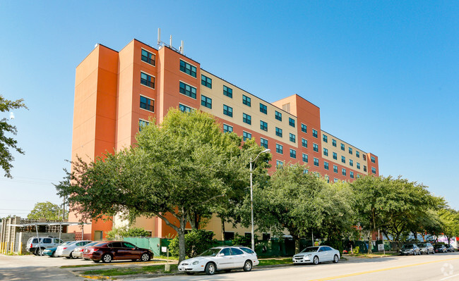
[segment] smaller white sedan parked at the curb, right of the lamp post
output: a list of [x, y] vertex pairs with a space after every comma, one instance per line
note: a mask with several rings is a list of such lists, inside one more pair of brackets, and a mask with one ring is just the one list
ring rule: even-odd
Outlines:
[[330, 246], [311, 246], [303, 249], [292, 258], [293, 263], [314, 263], [318, 264], [323, 261], [340, 261], [340, 251]]

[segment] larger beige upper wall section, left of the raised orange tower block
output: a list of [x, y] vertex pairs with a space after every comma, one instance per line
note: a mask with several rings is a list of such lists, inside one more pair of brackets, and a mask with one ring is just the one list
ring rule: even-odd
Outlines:
[[[222, 80], [220, 77], [212, 75], [205, 70], [201, 69], [201, 74], [205, 75], [212, 79], [212, 89], [201, 85], [201, 95], [207, 96], [212, 99], [212, 109], [205, 106], [200, 106], [201, 111], [205, 111], [212, 115], [215, 115], [217, 118], [228, 120], [236, 125], [251, 130], [253, 132], [258, 132], [261, 135], [266, 135], [271, 137], [278, 142], [284, 142], [290, 146], [298, 147], [298, 137], [297, 136], [297, 126], [298, 120], [297, 117], [282, 111], [282, 109], [273, 106], [267, 101], [259, 99], [257, 96], [250, 94], [243, 89], [240, 89], [225, 80]], [[200, 77], [201, 79], [201, 77]], [[223, 85], [232, 89], [232, 98], [225, 96], [223, 94]], [[242, 103], [242, 95], [248, 96], [251, 99], [251, 106], [246, 106]], [[201, 101], [200, 101], [201, 104]], [[233, 108], [233, 117], [230, 118], [227, 115], [223, 114], [223, 105], [227, 105]], [[264, 104], [267, 107], [267, 114], [261, 113], [260, 104]], [[282, 121], [275, 119], [275, 111], [282, 113]], [[242, 121], [243, 113], [251, 115], [251, 125], [246, 124]], [[289, 118], [295, 120], [295, 127], [289, 125]], [[268, 123], [268, 132], [260, 129], [260, 120]], [[275, 135], [275, 127], [282, 129], [282, 137]], [[290, 142], [290, 133], [295, 135], [296, 142]]]

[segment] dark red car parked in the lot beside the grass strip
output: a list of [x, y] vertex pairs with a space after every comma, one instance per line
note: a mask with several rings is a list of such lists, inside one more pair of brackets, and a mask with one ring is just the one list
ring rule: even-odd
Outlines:
[[138, 248], [136, 245], [125, 241], [100, 242], [88, 246], [83, 251], [83, 258], [93, 260], [95, 263], [109, 263], [113, 260], [150, 261], [153, 252], [150, 249]]

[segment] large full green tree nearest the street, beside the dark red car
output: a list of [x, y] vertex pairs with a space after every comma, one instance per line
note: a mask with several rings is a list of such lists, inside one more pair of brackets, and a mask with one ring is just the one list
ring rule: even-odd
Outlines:
[[[160, 125], [150, 120], [136, 136], [137, 143], [115, 154], [87, 163], [73, 163], [70, 187], [57, 187], [70, 196], [73, 209], [84, 218], [121, 214], [157, 216], [177, 231], [179, 261], [185, 258], [186, 223], [209, 213], [232, 187], [227, 177], [237, 177], [240, 142], [221, 132], [207, 113], [169, 113]], [[234, 166], [234, 167], [233, 167]], [[228, 175], [228, 173], [232, 175]]]

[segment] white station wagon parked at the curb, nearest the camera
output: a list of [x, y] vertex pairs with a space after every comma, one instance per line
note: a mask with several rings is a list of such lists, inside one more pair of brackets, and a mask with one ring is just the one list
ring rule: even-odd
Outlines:
[[179, 271], [188, 275], [205, 272], [213, 275], [217, 270], [243, 269], [252, 270], [258, 265], [256, 253], [246, 246], [217, 246], [204, 251], [196, 258], [189, 258], [181, 261]]

